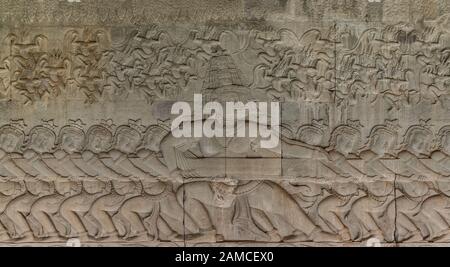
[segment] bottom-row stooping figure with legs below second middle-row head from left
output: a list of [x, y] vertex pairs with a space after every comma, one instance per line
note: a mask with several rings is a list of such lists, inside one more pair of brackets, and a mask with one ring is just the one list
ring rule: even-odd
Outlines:
[[44, 196], [33, 203], [27, 217], [34, 236], [40, 239], [49, 240], [59, 236], [58, 229], [63, 227], [58, 217], [59, 208], [65, 199], [81, 193], [82, 183], [63, 180], [54, 182], [54, 187], [54, 194]]

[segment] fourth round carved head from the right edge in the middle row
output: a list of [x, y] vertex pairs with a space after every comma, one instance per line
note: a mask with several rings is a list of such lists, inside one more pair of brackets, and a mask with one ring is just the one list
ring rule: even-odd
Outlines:
[[329, 150], [335, 150], [344, 156], [354, 153], [361, 144], [361, 133], [356, 128], [342, 125], [332, 135]]

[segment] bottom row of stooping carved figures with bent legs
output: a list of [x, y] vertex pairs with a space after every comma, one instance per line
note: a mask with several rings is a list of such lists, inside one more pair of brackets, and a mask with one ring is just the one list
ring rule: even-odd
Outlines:
[[[448, 182], [0, 182], [2, 242], [448, 242]], [[225, 212], [228, 211], [228, 212]], [[225, 222], [225, 226], [219, 221]]]

